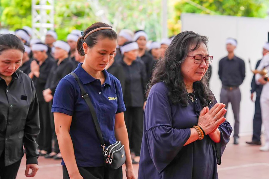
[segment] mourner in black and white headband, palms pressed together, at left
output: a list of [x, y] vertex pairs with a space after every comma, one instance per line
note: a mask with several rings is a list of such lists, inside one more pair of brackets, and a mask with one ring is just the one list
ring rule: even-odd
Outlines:
[[55, 60], [48, 57], [48, 46], [42, 43], [32, 45], [33, 60], [31, 62], [31, 72], [29, 77], [32, 78], [36, 88], [36, 94], [39, 103], [40, 133], [36, 139], [39, 145], [40, 155], [46, 155], [51, 152], [51, 121], [49, 104], [45, 102], [42, 91], [45, 90], [45, 84]]

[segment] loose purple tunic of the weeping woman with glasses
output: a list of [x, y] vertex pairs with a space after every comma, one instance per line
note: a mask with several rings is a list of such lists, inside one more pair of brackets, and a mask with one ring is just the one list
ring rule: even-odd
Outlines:
[[[144, 113], [138, 179], [218, 178], [217, 163], [221, 163], [220, 156], [233, 129], [225, 121], [218, 128], [220, 143], [206, 135], [203, 140], [184, 146], [190, 128], [198, 123], [194, 105], [191, 102], [187, 107], [173, 105], [166, 84], [153, 85]], [[199, 99], [198, 105], [202, 109]]]

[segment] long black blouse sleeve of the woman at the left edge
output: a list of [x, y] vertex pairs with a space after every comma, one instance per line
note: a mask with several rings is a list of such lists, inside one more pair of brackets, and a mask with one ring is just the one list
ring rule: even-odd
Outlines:
[[26, 153], [26, 164], [32, 164], [37, 162], [39, 153], [37, 152], [36, 137], [40, 132], [39, 125], [39, 108], [38, 100], [36, 95], [36, 90], [34, 88], [33, 81], [31, 81], [33, 100], [30, 104], [29, 111], [26, 118], [26, 123], [24, 127], [23, 145], [25, 147]]

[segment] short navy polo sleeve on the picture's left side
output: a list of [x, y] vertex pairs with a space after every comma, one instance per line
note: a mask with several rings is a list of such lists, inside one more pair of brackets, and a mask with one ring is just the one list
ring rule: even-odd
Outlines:
[[65, 78], [63, 78], [54, 94], [51, 112], [60, 112], [72, 116], [75, 104], [75, 88]]

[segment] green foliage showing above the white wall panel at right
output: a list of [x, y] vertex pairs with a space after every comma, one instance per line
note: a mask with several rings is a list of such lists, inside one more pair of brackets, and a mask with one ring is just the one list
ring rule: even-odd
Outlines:
[[[202, 7], [201, 7], [202, 6]], [[226, 16], [260, 17], [267, 16], [267, 0], [182, 0], [175, 3], [174, 18], [170, 21], [169, 33], [176, 34], [181, 26], [181, 13], [200, 13]]]

